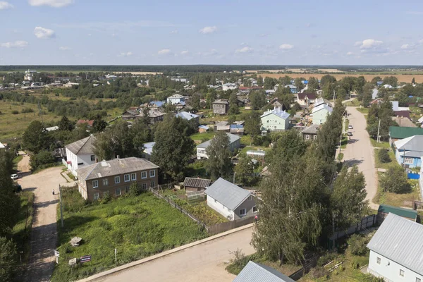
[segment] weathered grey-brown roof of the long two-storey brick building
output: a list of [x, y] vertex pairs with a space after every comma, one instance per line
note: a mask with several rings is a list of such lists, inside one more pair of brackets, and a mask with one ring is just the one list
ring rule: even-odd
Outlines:
[[100, 161], [97, 164], [85, 166], [77, 169], [78, 178], [90, 180], [102, 178], [106, 176], [117, 176], [123, 173], [131, 173], [135, 171], [145, 171], [146, 169], [159, 168], [147, 159], [135, 157], [125, 159], [112, 159], [111, 161]]

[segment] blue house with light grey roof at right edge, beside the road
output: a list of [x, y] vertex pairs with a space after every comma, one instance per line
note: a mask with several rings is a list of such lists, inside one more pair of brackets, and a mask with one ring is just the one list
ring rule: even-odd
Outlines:
[[423, 135], [414, 135], [393, 143], [398, 164], [410, 168], [421, 167], [423, 157]]

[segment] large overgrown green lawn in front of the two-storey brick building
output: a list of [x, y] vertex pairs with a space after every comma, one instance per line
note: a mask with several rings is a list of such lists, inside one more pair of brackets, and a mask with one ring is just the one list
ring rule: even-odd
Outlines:
[[[61, 263], [51, 281], [75, 281], [207, 237], [195, 221], [149, 192], [104, 204], [85, 204], [75, 188], [65, 188], [62, 193], [65, 227], [58, 227]], [[69, 243], [75, 236], [83, 240], [80, 247]], [[83, 255], [91, 255], [92, 261], [68, 266], [69, 259]]]

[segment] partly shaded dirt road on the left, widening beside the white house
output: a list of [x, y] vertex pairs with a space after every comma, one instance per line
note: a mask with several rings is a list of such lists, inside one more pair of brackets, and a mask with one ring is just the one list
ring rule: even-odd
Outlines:
[[[28, 161], [25, 156], [18, 168], [25, 168]], [[22, 162], [22, 164], [21, 164]], [[35, 194], [34, 221], [31, 233], [30, 264], [25, 274], [25, 281], [49, 281], [54, 269], [54, 248], [57, 242], [56, 205], [59, 202], [59, 184], [66, 183], [60, 175], [62, 167], [47, 168], [33, 175], [18, 179], [23, 190], [32, 190]], [[52, 190], [56, 195], [52, 195]]]

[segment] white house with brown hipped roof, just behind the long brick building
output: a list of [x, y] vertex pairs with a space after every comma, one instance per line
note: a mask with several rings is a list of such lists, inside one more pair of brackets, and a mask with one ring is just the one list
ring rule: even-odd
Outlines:
[[92, 144], [94, 140], [94, 135], [90, 135], [65, 146], [68, 169], [74, 176], [78, 176], [76, 170], [81, 168], [81, 166], [89, 166], [99, 161], [93, 151], [94, 147]]

